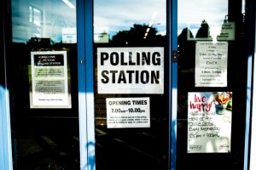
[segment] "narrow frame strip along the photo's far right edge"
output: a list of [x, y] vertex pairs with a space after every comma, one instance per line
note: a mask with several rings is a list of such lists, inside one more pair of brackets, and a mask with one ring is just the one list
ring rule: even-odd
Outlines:
[[[256, 100], [256, 3], [254, 0], [248, 0], [247, 1], [247, 20], [248, 20], [248, 35], [252, 35], [249, 38], [248, 43], [248, 71], [250, 71], [250, 74], [247, 75], [248, 79], [251, 80], [251, 82], [247, 82], [247, 99], [250, 99], [247, 103], [247, 111], [250, 111], [247, 113], [247, 138], [246, 138], [246, 150], [245, 153], [247, 154], [247, 159], [245, 159], [245, 164], [247, 165], [244, 167], [245, 170], [254, 170], [256, 169], [256, 106], [255, 106], [255, 100]], [[250, 67], [250, 68], [249, 68]], [[254, 81], [253, 81], [254, 80]], [[254, 104], [254, 105], [253, 105]], [[250, 125], [250, 127], [249, 127]], [[245, 154], [245, 155], [246, 155]]]

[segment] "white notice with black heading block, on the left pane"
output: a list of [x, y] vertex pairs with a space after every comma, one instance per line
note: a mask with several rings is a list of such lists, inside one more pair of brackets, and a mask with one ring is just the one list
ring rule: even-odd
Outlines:
[[67, 52], [31, 52], [31, 108], [71, 108]]

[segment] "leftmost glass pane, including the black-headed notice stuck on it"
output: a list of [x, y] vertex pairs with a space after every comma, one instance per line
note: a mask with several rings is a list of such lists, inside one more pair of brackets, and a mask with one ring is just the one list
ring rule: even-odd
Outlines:
[[11, 7], [14, 168], [79, 169], [76, 9], [55, 0]]

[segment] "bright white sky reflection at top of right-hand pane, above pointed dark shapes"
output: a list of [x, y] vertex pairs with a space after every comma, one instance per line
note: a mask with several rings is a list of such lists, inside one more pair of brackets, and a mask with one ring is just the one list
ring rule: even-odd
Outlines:
[[178, 0], [177, 6], [178, 34], [189, 27], [194, 37], [202, 20], [207, 21], [211, 36], [216, 37], [228, 14], [228, 0]]

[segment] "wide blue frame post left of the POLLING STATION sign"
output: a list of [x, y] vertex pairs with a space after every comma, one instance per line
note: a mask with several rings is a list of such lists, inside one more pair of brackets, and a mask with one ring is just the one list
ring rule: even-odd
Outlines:
[[80, 167], [95, 169], [93, 1], [77, 1]]

